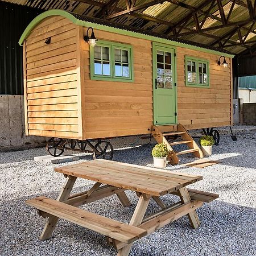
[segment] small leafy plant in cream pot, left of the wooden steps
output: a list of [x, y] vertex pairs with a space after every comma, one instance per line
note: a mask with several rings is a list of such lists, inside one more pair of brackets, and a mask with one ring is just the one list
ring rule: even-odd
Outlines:
[[152, 149], [152, 156], [154, 158], [154, 167], [166, 168], [166, 156], [169, 154], [169, 150], [164, 143], [156, 144]]

